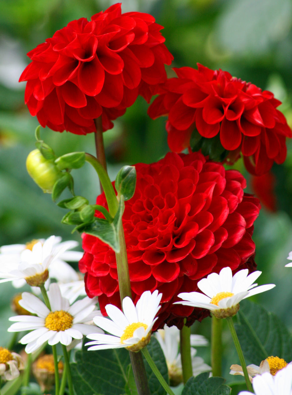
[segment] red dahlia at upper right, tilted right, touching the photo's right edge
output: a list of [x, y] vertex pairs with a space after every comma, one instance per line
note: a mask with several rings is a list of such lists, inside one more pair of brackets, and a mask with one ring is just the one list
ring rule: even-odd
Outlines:
[[[205, 137], [201, 145], [206, 138], [219, 135], [231, 161], [241, 151], [252, 174], [262, 175], [273, 162], [284, 162], [286, 137], [292, 134], [284, 115], [277, 110], [281, 102], [273, 93], [201, 64], [198, 70], [182, 67], [174, 71], [178, 78], [162, 85], [161, 94], [148, 110], [151, 118], [168, 115], [166, 129], [172, 151], [189, 147], [196, 129]], [[216, 141], [217, 151], [218, 144]]]

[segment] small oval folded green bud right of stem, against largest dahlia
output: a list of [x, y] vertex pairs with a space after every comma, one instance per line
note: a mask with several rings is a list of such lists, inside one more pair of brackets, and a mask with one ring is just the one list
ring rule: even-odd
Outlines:
[[135, 166], [123, 166], [118, 172], [115, 188], [118, 196], [123, 195], [124, 200], [129, 200], [133, 197], [136, 188], [136, 168]]

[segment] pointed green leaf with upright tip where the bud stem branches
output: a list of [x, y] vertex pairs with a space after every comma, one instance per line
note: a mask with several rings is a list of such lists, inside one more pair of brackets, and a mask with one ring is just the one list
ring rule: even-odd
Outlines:
[[103, 218], [96, 218], [95, 221], [82, 228], [82, 231], [98, 237], [101, 241], [108, 244], [115, 252], [119, 252], [119, 228], [121, 226], [121, 218], [125, 209], [125, 204], [123, 196], [121, 196], [119, 201], [118, 211], [112, 222], [108, 222]]

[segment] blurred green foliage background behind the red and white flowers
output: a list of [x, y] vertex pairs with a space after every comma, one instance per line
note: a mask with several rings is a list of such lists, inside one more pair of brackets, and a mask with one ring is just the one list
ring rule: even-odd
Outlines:
[[[65, 214], [43, 194], [27, 174], [25, 159], [34, 147], [36, 118], [24, 104], [25, 83], [19, 76], [28, 64], [26, 53], [51, 37], [73, 19], [106, 9], [106, 0], [2, 0], [0, 13], [0, 246], [61, 235], [76, 239], [71, 227], [61, 224]], [[283, 102], [280, 110], [292, 126], [292, 2], [290, 0], [125, 0], [123, 12], [142, 11], [154, 15], [164, 26], [166, 45], [174, 55], [173, 66], [202, 63], [221, 68], [262, 89], [271, 90]], [[169, 76], [173, 75], [171, 68]], [[168, 150], [165, 119], [151, 120], [142, 98], [115, 121], [104, 134], [111, 179], [123, 164], [150, 163]], [[94, 136], [41, 130], [42, 138], [57, 155], [85, 150], [94, 154]], [[273, 207], [263, 206], [255, 223], [256, 262], [263, 272], [260, 283], [277, 284], [274, 290], [255, 299], [275, 312], [292, 331], [292, 268], [285, 268], [292, 250], [292, 141], [287, 141], [286, 162], [272, 169]], [[236, 164], [248, 180], [246, 192], [254, 193], [250, 175], [241, 161]], [[76, 194], [91, 203], [99, 193], [95, 172], [86, 164], [73, 173]], [[260, 188], [264, 190], [265, 183]], [[63, 196], [62, 196], [63, 197]], [[66, 196], [64, 196], [65, 198]], [[264, 203], [264, 201], [263, 201]], [[272, 209], [271, 209], [272, 208]], [[11, 316], [10, 284], [1, 284], [1, 339], [8, 339]], [[209, 319], [195, 325], [209, 336]], [[231, 342], [225, 335], [226, 346]], [[0, 344], [2, 345], [2, 344]], [[229, 348], [226, 348], [226, 355]], [[231, 353], [232, 354], [232, 353]], [[206, 354], [207, 355], [207, 354]], [[231, 355], [232, 356], [232, 355]], [[208, 362], [208, 356], [206, 356]], [[236, 357], [235, 357], [236, 358]], [[230, 359], [230, 357], [229, 357]], [[237, 359], [231, 361], [237, 363]], [[228, 359], [225, 363], [228, 372]], [[230, 365], [230, 364], [229, 364]]]

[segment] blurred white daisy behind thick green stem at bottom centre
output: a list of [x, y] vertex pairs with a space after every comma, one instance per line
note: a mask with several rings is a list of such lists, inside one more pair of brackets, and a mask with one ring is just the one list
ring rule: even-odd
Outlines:
[[[181, 355], [178, 352], [180, 331], [175, 326], [165, 325], [163, 329], [155, 332], [155, 337], [165, 356], [171, 386], [177, 386], [183, 380]], [[191, 344], [206, 346], [208, 341], [204, 336], [191, 335]], [[204, 363], [203, 358], [196, 357], [196, 354], [197, 350], [191, 348], [193, 376], [211, 370], [211, 367]]]

